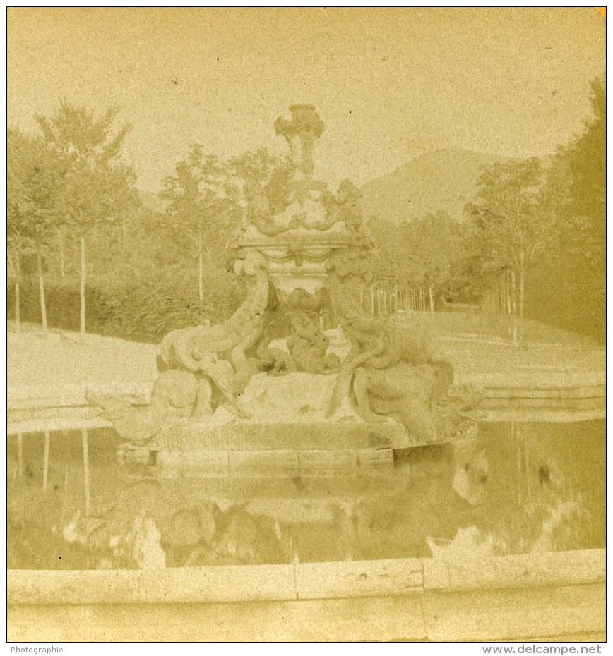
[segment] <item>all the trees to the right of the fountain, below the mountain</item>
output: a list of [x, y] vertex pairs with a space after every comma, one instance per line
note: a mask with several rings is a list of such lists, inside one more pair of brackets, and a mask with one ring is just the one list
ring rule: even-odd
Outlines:
[[[605, 310], [605, 87], [592, 84], [593, 117], [583, 132], [545, 160], [498, 162], [477, 181], [463, 221], [440, 213], [400, 225], [370, 221], [378, 246], [376, 276], [384, 283], [411, 284], [434, 295], [475, 299], [501, 280], [508, 312], [520, 319], [528, 274], [549, 269], [566, 276], [586, 310]], [[535, 294], [545, 294], [544, 288]], [[597, 332], [596, 331], [592, 331]], [[518, 335], [515, 335], [518, 339]], [[519, 338], [521, 334], [519, 335]]]

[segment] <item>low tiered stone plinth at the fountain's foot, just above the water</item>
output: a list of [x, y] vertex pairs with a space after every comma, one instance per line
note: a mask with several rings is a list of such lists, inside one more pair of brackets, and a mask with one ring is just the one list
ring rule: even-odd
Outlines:
[[118, 458], [171, 477], [305, 478], [391, 470], [393, 449], [407, 446], [405, 430], [393, 423], [190, 423], [145, 447], [125, 444]]

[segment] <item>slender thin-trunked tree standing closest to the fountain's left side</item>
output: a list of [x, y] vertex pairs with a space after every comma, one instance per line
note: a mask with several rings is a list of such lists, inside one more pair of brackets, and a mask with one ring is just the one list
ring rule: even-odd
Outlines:
[[223, 267], [232, 233], [239, 226], [236, 190], [214, 155], [203, 154], [194, 144], [186, 159], [175, 166], [174, 176], [163, 181], [167, 201], [166, 229], [175, 243], [198, 259], [198, 299], [204, 303], [205, 260]]

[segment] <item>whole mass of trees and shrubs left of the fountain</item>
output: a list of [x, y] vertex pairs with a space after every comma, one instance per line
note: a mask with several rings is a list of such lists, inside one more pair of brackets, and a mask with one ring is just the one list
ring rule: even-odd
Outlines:
[[[216, 297], [215, 315], [240, 295], [240, 282], [230, 275], [234, 237], [244, 226], [240, 189], [246, 181], [257, 182], [270, 209], [280, 211], [292, 176], [288, 158], [261, 148], [222, 162], [193, 145], [174, 174], [162, 180], [159, 197], [150, 203], [157, 209], [151, 209], [143, 205], [133, 169], [121, 161], [130, 126], [118, 124], [117, 109], [95, 116], [61, 101], [53, 116], [35, 119], [36, 135], [8, 131], [8, 272], [17, 327], [25, 272], [35, 272], [40, 320], [47, 329], [45, 279], [59, 272], [61, 285], [71, 286], [75, 260], [82, 333], [88, 269], [93, 269], [94, 286], [110, 281], [119, 291], [107, 295], [112, 297], [108, 305], [123, 303], [123, 290], [141, 306], [129, 312], [128, 322], [155, 324], [153, 330], [134, 333], [152, 339], [173, 320], [210, 314], [210, 303], [205, 305], [211, 297]], [[190, 300], [191, 281], [198, 291], [197, 308]]]

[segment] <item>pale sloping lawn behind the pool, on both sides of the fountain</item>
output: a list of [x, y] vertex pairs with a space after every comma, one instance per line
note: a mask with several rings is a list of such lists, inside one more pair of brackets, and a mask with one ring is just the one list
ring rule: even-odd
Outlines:
[[[510, 375], [604, 372], [605, 349], [559, 329], [526, 322], [525, 342], [513, 348], [487, 315], [419, 312], [407, 317], [426, 324], [439, 356], [466, 373]], [[153, 344], [33, 327], [8, 332], [8, 393], [24, 387], [85, 387], [88, 384], [138, 384], [157, 375]]]

